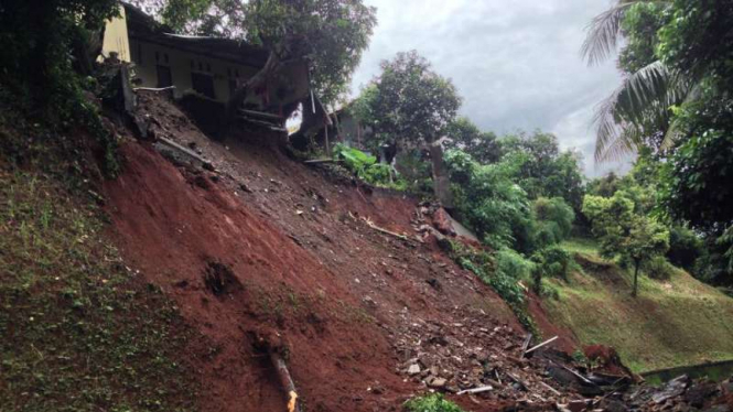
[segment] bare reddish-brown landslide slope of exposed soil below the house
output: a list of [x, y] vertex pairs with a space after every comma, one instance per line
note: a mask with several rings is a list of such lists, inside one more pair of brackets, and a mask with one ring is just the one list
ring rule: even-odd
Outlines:
[[414, 238], [414, 199], [324, 177], [285, 156], [271, 135], [213, 142], [169, 101], [151, 94], [140, 101], [159, 135], [196, 148], [216, 169], [171, 162], [129, 139], [125, 171], [105, 187], [126, 262], [206, 339], [208, 350], [191, 354], [203, 411], [284, 410], [257, 349], [262, 339], [287, 348], [312, 411], [400, 409], [424, 389], [398, 370], [418, 355], [406, 349], [420, 345], [414, 330], [451, 325], [467, 341], [476, 334], [461, 327], [468, 318], [521, 341], [507, 305], [435, 245], [362, 219]]

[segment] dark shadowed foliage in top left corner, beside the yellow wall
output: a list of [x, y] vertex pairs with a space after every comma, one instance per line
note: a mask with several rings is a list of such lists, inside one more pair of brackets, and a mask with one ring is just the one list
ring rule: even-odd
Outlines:
[[109, 176], [118, 172], [116, 140], [86, 96], [94, 91], [87, 75], [96, 57], [88, 48], [118, 8], [115, 0], [10, 0], [0, 6], [0, 89], [4, 91], [0, 102], [33, 116], [45, 129], [89, 132], [101, 148], [104, 172]]

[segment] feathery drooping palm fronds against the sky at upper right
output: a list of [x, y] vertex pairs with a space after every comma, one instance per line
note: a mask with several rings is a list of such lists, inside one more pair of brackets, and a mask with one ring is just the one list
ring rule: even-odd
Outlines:
[[[639, 3], [669, 1], [618, 0], [610, 10], [597, 15], [589, 25], [582, 54], [590, 65], [607, 59], [623, 36], [622, 22], [626, 13]], [[649, 138], [662, 138], [661, 148], [669, 148], [676, 137], [670, 122], [670, 107], [693, 98], [697, 82], [686, 73], [656, 61], [626, 78], [596, 108], [595, 159], [617, 159], [635, 152]]]

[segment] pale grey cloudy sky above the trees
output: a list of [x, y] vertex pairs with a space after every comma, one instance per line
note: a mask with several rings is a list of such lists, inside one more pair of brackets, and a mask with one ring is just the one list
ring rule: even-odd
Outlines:
[[614, 59], [589, 67], [581, 58], [585, 26], [611, 0], [365, 0], [378, 25], [354, 74], [358, 95], [379, 63], [417, 50], [452, 79], [461, 115], [502, 135], [542, 129], [561, 149], [583, 153], [585, 174], [625, 164], [595, 164], [595, 105], [616, 88]]

